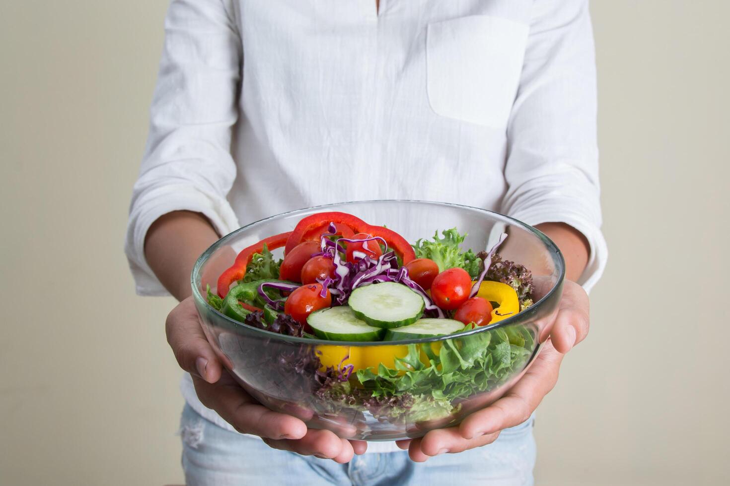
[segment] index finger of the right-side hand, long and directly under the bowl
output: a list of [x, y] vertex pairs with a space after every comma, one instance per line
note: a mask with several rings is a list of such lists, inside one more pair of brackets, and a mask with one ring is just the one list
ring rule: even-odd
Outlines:
[[514, 427], [530, 418], [542, 398], [558, 381], [558, 369], [563, 358], [550, 343], [539, 354], [525, 375], [499, 400], [489, 407], [472, 413], [458, 426], [464, 439], [493, 434]]

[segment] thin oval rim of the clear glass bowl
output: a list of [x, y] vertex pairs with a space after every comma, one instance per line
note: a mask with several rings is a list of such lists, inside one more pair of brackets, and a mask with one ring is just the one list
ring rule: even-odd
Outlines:
[[[297, 213], [300, 211], [309, 211], [314, 209], [320, 209], [320, 208], [329, 208], [332, 206], [339, 206], [344, 204], [365, 204], [365, 203], [426, 203], [426, 204], [433, 204], [433, 205], [441, 205], [441, 206], [447, 206], [447, 207], [455, 207], [455, 208], [466, 208], [470, 210], [479, 211], [482, 213], [488, 213], [490, 215], [496, 216], [496, 219], [505, 219], [508, 222], [513, 222], [516, 224], [516, 226], [523, 228], [523, 230], [527, 230], [528, 232], [531, 232], [533, 235], [535, 235], [539, 240], [542, 241], [542, 243], [545, 244], [545, 246], [548, 246], [548, 248], [553, 250], [553, 262], [556, 264], [556, 266], [560, 270], [560, 275], [558, 275], [558, 281], [553, 285], [550, 290], [542, 296], [542, 299], [539, 299], [537, 302], [534, 302], [533, 305], [526, 308], [525, 310], [520, 311], [519, 313], [512, 315], [512, 317], [508, 317], [506, 319], [502, 319], [502, 321], [496, 322], [495, 324], [488, 324], [487, 326], [481, 326], [477, 327], [476, 329], [472, 329], [470, 331], [466, 332], [458, 332], [455, 334], [444, 334], [443, 336], [437, 336], [437, 337], [421, 337], [418, 339], [412, 339], [412, 340], [401, 340], [401, 341], [331, 341], [331, 340], [321, 340], [319, 338], [311, 338], [311, 337], [296, 337], [296, 336], [288, 336], [286, 334], [278, 334], [276, 332], [266, 331], [265, 329], [258, 329], [257, 327], [248, 326], [247, 324], [244, 324], [240, 321], [235, 320], [234, 318], [228, 317], [228, 315], [225, 315], [223, 313], [220, 313], [218, 310], [216, 310], [212, 305], [210, 305], [201, 294], [200, 290], [198, 289], [198, 286], [196, 285], [195, 278], [196, 275], [198, 275], [201, 267], [203, 266], [204, 262], [207, 262], [207, 259], [210, 258], [210, 255], [216, 251], [220, 246], [223, 246], [224, 243], [226, 243], [228, 240], [231, 240], [234, 238], [239, 232], [242, 232], [243, 230], [247, 229], [248, 227], [252, 227], [254, 224], [259, 224], [262, 222], [269, 221], [269, 219], [275, 219], [279, 218], [280, 216], [285, 216], [287, 214], [291, 213]], [[464, 204], [456, 204], [456, 203], [442, 203], [439, 201], [428, 201], [428, 200], [411, 200], [411, 199], [374, 199], [374, 200], [360, 200], [360, 201], [345, 201], [342, 203], [329, 203], [329, 204], [322, 204], [322, 205], [315, 205], [310, 206], [308, 208], [299, 208], [299, 209], [293, 209], [291, 211], [285, 211], [283, 213], [274, 214], [273, 216], [267, 216], [263, 219], [258, 219], [255, 222], [251, 222], [249, 224], [246, 224], [245, 226], [240, 227], [238, 230], [234, 230], [228, 235], [223, 236], [223, 238], [220, 238], [215, 243], [213, 243], [210, 247], [207, 248], [206, 251], [201, 254], [201, 256], [198, 257], [197, 261], [195, 262], [195, 265], [193, 266], [193, 271], [191, 272], [191, 287], [193, 289], [193, 298], [196, 300], [201, 300], [204, 302], [204, 305], [210, 308], [212, 312], [218, 314], [220, 318], [223, 318], [223, 320], [228, 321], [228, 327], [232, 327], [233, 329], [237, 329], [239, 327], [244, 327], [247, 332], [253, 332], [254, 334], [260, 334], [261, 337], [273, 339], [273, 340], [280, 340], [284, 342], [291, 342], [291, 343], [299, 343], [299, 344], [308, 344], [308, 345], [330, 345], [330, 346], [357, 346], [357, 347], [367, 347], [367, 346], [391, 346], [391, 345], [410, 345], [410, 344], [420, 344], [424, 342], [439, 342], [439, 341], [445, 341], [449, 339], [455, 339], [459, 337], [466, 337], [466, 336], [472, 336], [474, 334], [479, 334], [481, 332], [489, 332], [493, 331], [494, 329], [499, 329], [502, 327], [510, 326], [511, 324], [514, 324], [515, 322], [522, 321], [525, 318], [529, 317], [529, 315], [534, 315], [537, 313], [537, 310], [539, 310], [539, 307], [541, 305], [544, 305], [545, 302], [550, 299], [550, 297], [553, 296], [553, 294], [561, 288], [562, 283], [565, 278], [565, 259], [563, 257], [563, 254], [560, 251], [560, 248], [553, 243], [553, 240], [550, 240], [545, 233], [543, 233], [540, 230], [537, 230], [537, 228], [530, 226], [529, 224], [521, 222], [519, 219], [512, 218], [510, 216], [504, 215], [502, 213], [497, 213], [496, 211], [489, 211], [488, 209], [484, 208], [475, 208], [474, 206], [464, 205]]]

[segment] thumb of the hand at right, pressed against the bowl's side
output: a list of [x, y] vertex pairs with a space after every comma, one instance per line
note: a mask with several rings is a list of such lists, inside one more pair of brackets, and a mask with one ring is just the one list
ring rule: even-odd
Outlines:
[[556, 350], [565, 354], [585, 339], [590, 326], [589, 315], [588, 295], [583, 287], [566, 281], [560, 310], [550, 332], [550, 340]]

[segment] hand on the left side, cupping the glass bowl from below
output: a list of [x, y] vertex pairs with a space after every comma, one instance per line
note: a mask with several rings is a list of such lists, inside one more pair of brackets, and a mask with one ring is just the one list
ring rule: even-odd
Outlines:
[[192, 297], [167, 316], [167, 342], [177, 363], [193, 377], [198, 398], [241, 434], [260, 436], [280, 450], [347, 463], [367, 448], [364, 441], [340, 439], [331, 431], [308, 429], [299, 418], [272, 412], [250, 396], [223, 368], [201, 328]]

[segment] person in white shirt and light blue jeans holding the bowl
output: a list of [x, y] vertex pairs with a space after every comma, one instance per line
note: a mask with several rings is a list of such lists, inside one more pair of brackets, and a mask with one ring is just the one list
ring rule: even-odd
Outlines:
[[[370, 199], [537, 225], [569, 279], [552, 344], [504, 398], [398, 444], [307, 430], [257, 404], [190, 297], [193, 263], [220, 235]], [[173, 0], [126, 252], [139, 294], [180, 299], [166, 331], [190, 373], [188, 484], [531, 484], [531, 414], [588, 332], [600, 224], [586, 0]]]

